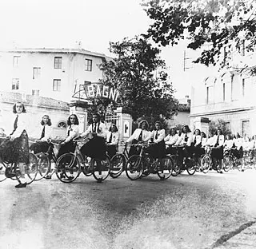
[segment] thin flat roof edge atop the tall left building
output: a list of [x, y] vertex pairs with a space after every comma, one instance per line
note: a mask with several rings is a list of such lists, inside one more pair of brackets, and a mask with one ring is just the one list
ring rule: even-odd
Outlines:
[[86, 49], [54, 49], [54, 48], [17, 48], [17, 49], [8, 49], [7, 53], [81, 53], [86, 55], [91, 55], [95, 57], [106, 58], [107, 56], [104, 53], [92, 52]]

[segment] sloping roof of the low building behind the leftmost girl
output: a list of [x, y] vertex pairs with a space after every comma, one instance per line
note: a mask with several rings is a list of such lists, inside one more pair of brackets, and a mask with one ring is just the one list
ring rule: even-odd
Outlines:
[[24, 105], [36, 105], [53, 109], [69, 110], [68, 103], [50, 97], [40, 97], [29, 94], [0, 91], [0, 102], [15, 103], [21, 101]]

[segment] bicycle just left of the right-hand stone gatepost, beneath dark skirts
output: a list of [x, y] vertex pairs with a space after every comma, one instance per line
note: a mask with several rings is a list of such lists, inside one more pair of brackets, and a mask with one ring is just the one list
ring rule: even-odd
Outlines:
[[178, 174], [180, 174], [184, 170], [186, 170], [189, 175], [194, 175], [194, 172], [196, 172], [194, 157], [191, 157], [190, 159], [185, 158], [184, 160], [180, 160], [180, 156], [178, 155], [178, 148], [185, 148], [185, 145], [174, 145], [173, 148], [176, 149], [176, 153], [170, 156], [174, 165], [172, 176], [178, 176]]

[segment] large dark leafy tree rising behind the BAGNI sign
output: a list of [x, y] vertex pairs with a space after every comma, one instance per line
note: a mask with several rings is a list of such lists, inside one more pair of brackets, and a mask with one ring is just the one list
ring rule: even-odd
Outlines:
[[176, 113], [178, 101], [158, 48], [136, 37], [110, 42], [110, 52], [114, 59], [100, 66], [104, 73], [101, 82], [118, 89], [117, 105], [129, 109], [134, 120], [152, 115], [170, 118]]

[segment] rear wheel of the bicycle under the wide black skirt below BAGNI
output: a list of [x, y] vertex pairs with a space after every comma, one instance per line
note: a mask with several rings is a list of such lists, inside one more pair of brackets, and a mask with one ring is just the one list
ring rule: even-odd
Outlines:
[[106, 156], [106, 159], [92, 158], [90, 164], [93, 167], [93, 176], [96, 180], [105, 180], [110, 175], [110, 158]]

